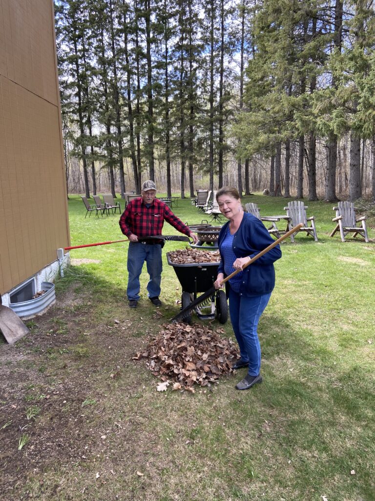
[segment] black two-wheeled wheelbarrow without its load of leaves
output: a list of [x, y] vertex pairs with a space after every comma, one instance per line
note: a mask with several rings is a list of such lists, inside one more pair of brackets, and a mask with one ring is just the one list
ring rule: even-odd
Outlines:
[[[177, 279], [182, 287], [181, 310], [186, 308], [197, 297], [197, 293], [212, 288], [217, 277], [219, 263], [172, 263], [166, 254], [168, 265], [173, 267]], [[213, 320], [217, 318], [220, 324], [228, 320], [228, 304], [225, 292], [220, 289], [213, 292], [205, 301], [194, 308], [198, 318]], [[191, 311], [186, 312], [182, 319], [186, 324], [191, 323]]]

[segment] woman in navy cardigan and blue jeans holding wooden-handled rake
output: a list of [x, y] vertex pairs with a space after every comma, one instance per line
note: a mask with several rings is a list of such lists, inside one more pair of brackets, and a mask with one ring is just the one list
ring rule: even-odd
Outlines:
[[216, 193], [216, 200], [220, 212], [229, 221], [222, 226], [218, 236], [221, 263], [214, 286], [220, 289], [224, 277], [239, 270], [227, 282], [230, 320], [241, 356], [232, 368], [248, 367], [246, 377], [235, 386], [237, 390], [248, 390], [262, 381], [256, 329], [274, 287], [273, 263], [281, 257], [281, 250], [276, 245], [242, 271], [243, 265], [274, 240], [259, 219], [243, 212], [235, 188], [222, 187]]

